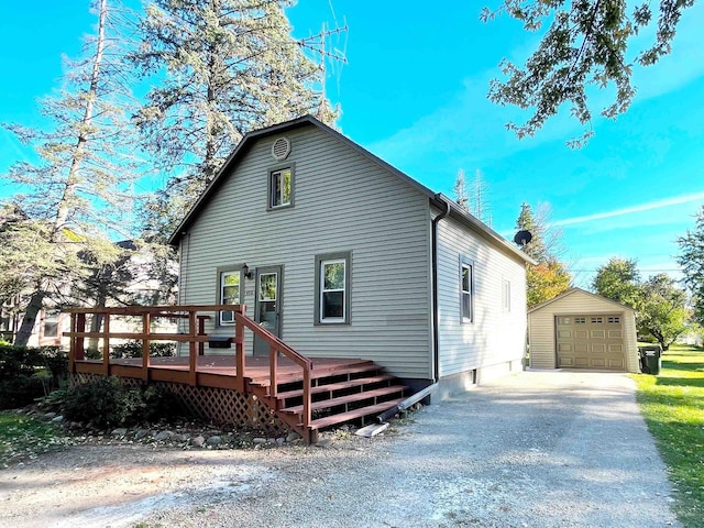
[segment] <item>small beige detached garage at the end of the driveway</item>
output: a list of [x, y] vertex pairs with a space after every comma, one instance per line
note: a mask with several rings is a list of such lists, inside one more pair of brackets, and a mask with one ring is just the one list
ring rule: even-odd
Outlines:
[[530, 366], [639, 372], [632, 308], [571, 288], [528, 311]]

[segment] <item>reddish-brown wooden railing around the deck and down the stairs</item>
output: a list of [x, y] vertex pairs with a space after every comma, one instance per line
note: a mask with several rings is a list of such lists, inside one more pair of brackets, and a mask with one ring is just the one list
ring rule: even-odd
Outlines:
[[[212, 314], [213, 320], [220, 311], [234, 312], [235, 323], [232, 330], [231, 342], [235, 345], [234, 367], [235, 376], [233, 388], [241, 393], [248, 392], [246, 384], [246, 362], [245, 362], [245, 339], [244, 329], [251, 330], [270, 345], [270, 396], [276, 397], [277, 380], [278, 380], [278, 358], [279, 354], [297, 364], [302, 370], [302, 402], [304, 415], [302, 426], [308, 427], [311, 420], [310, 410], [310, 371], [312, 362], [296, 352], [294, 349], [284, 343], [279, 338], [260, 327], [254, 320], [250, 319], [244, 312], [244, 305], [187, 305], [187, 306], [128, 306], [119, 308], [69, 308], [65, 311], [70, 314], [70, 331], [64, 332], [65, 337], [70, 338], [70, 348], [68, 353], [68, 367], [72, 373], [77, 372], [77, 362], [82, 362], [86, 358], [86, 339], [101, 339], [102, 346], [102, 367], [100, 374], [110, 375], [110, 340], [114, 339], [132, 339], [142, 341], [142, 365], [140, 377], [144, 381], [150, 380], [150, 370], [152, 362], [150, 356], [150, 344], [152, 341], [175, 341], [177, 343], [188, 343], [188, 383], [190, 385], [198, 384], [198, 355], [202, 355], [204, 345], [210, 341], [212, 336], [205, 332], [205, 321], [210, 319]], [[86, 331], [87, 316], [102, 316], [102, 329], [100, 331]], [[121, 317], [141, 317], [141, 331], [112, 331], [111, 323], [116, 316]], [[158, 318], [185, 319], [187, 320], [187, 331], [178, 333], [152, 332], [152, 322]], [[227, 328], [227, 327], [226, 327]], [[221, 336], [219, 336], [221, 337]]]

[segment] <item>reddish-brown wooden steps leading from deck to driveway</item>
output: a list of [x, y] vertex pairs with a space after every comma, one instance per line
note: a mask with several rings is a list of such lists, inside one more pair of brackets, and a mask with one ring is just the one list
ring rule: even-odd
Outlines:
[[[312, 420], [304, 425], [302, 374], [277, 377], [271, 391], [268, 376], [250, 378], [250, 391], [262, 399], [288, 426], [309, 443], [315, 443], [320, 429], [353, 420], [375, 418], [404, 400], [408, 387], [396, 377], [384, 374], [373, 361], [350, 360], [349, 363], [310, 371]], [[275, 393], [272, 396], [272, 393]]]

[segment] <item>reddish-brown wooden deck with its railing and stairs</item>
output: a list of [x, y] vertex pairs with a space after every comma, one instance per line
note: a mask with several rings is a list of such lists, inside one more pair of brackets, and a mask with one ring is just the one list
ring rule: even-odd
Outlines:
[[[249, 407], [263, 403], [283, 424], [299, 432], [307, 443], [317, 441], [318, 430], [351, 420], [364, 420], [395, 407], [403, 400], [407, 387], [396, 383], [394, 376], [383, 372], [374, 362], [362, 359], [310, 359], [292, 349], [279, 338], [260, 327], [244, 315], [240, 305], [154, 306], [121, 308], [75, 308], [70, 338], [69, 371], [74, 375], [118, 376], [144, 383], [167, 383], [185, 393], [208, 393], [199, 408], [217, 407], [220, 416], [228, 413], [232, 395], [238, 394], [240, 415]], [[234, 312], [235, 324], [231, 337], [234, 351], [204, 355], [204, 344], [212, 338], [205, 332], [205, 320], [219, 311]], [[86, 316], [101, 315], [99, 331], [86, 331]], [[114, 332], [111, 320], [119, 317], [141, 317], [142, 331]], [[187, 321], [187, 331], [152, 333], [154, 319], [180, 318]], [[246, 355], [245, 331], [268, 343], [267, 355]], [[101, 359], [86, 358], [85, 340], [102, 340]], [[113, 359], [111, 339], [133, 339], [142, 342], [142, 358]], [[218, 339], [222, 339], [221, 336]], [[152, 341], [174, 341], [188, 344], [186, 356], [152, 356]], [[200, 391], [204, 389], [204, 391]], [[216, 400], [212, 391], [230, 392]], [[193, 394], [189, 397], [195, 398]], [[199, 397], [199, 396], [198, 396]], [[249, 398], [249, 399], [248, 399]], [[252, 399], [253, 398], [253, 399]], [[315, 410], [315, 415], [314, 415]]]

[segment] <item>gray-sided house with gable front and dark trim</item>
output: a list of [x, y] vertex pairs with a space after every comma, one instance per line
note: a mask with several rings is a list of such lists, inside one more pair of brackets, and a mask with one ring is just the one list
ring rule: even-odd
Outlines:
[[[441, 395], [521, 369], [530, 261], [315, 118], [246, 134], [169, 242], [182, 305], [244, 304], [306, 356]], [[231, 314], [208, 324], [232, 334]]]

